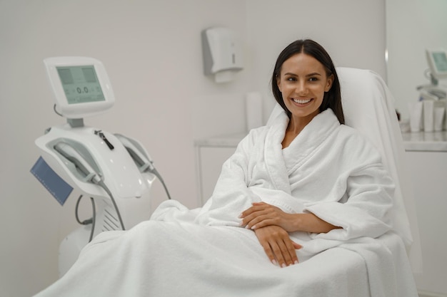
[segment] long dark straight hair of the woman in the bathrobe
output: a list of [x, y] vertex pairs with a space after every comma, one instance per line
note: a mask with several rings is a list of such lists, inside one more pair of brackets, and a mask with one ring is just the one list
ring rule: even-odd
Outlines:
[[324, 93], [323, 103], [321, 103], [320, 106], [320, 113], [323, 110], [331, 108], [331, 110], [333, 110], [333, 113], [335, 113], [336, 117], [338, 118], [338, 122], [344, 124], [345, 118], [343, 115], [343, 108], [341, 107], [340, 82], [338, 81], [338, 75], [335, 66], [333, 66], [332, 59], [326, 52], [326, 50], [323, 48], [323, 46], [321, 46], [320, 44], [316, 43], [311, 39], [293, 41], [293, 43], [289, 44], [279, 54], [271, 78], [271, 89], [273, 92], [273, 96], [276, 99], [276, 102], [278, 102], [279, 105], [281, 105], [283, 110], [286, 110], [286, 113], [290, 118], [291, 112], [290, 110], [287, 109], [286, 105], [284, 104], [283, 95], [281, 94], [281, 91], [278, 88], [277, 79], [281, 75], [281, 67], [283, 66], [283, 63], [288, 58], [298, 53], [306, 53], [306, 55], [316, 58], [321, 64], [323, 64], [323, 67], [326, 69], [326, 76], [329, 77], [330, 75], [333, 75], [333, 83], [331, 89], [328, 90], [328, 92]]

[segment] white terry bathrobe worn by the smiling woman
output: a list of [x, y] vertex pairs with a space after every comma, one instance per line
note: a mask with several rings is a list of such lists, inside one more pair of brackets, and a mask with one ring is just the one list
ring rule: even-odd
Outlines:
[[[321, 241], [312, 243], [311, 239], [376, 238], [390, 230], [394, 184], [370, 142], [353, 128], [340, 125], [329, 109], [283, 150], [287, 125], [288, 118], [281, 113], [273, 125], [250, 131], [224, 163], [211, 199], [194, 222], [240, 226], [239, 214], [262, 201], [288, 213], [312, 212], [343, 227], [328, 234], [291, 234], [312, 254], [326, 249], [328, 243], [321, 246]], [[188, 212], [182, 207], [174, 210], [176, 203], [165, 202], [152, 219], [171, 220]], [[311, 250], [314, 245], [316, 249]]]

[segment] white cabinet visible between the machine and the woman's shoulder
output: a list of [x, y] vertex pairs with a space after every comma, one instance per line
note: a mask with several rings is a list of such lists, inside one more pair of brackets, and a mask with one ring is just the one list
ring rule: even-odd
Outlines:
[[196, 171], [199, 204], [203, 205], [213, 194], [214, 186], [224, 162], [233, 155], [244, 133], [196, 140]]

